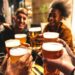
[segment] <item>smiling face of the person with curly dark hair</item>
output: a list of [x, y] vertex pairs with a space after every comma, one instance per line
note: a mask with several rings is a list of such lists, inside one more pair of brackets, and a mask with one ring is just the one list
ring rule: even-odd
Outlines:
[[56, 23], [60, 22], [61, 20], [61, 13], [57, 9], [52, 9], [49, 15], [49, 23], [52, 26], [55, 26]]

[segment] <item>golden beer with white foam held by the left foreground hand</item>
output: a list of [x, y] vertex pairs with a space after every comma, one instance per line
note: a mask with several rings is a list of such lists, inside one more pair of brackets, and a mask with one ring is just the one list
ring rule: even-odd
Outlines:
[[25, 54], [27, 54], [28, 51], [26, 48], [12, 48], [10, 49], [10, 59], [12, 63], [17, 62], [22, 56], [24, 56]]

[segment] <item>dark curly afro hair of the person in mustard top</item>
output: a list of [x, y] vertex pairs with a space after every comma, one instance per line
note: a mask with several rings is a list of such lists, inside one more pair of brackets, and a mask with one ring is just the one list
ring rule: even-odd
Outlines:
[[63, 16], [64, 18], [67, 18], [69, 16], [69, 12], [67, 10], [67, 7], [65, 6], [65, 4], [63, 2], [55, 2], [52, 5], [53, 9], [58, 9], [61, 12], [61, 16]]

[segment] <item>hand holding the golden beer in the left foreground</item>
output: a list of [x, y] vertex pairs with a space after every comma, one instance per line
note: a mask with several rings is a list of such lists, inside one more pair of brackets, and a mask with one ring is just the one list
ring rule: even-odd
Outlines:
[[5, 75], [27, 75], [31, 68], [32, 56], [26, 54], [21, 57], [16, 63], [11, 63], [11, 59], [7, 60], [7, 68]]

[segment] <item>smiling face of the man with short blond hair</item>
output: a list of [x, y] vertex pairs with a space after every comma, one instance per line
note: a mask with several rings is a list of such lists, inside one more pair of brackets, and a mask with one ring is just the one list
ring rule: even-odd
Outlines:
[[26, 20], [27, 20], [27, 16], [23, 13], [19, 13], [16, 16], [16, 27], [20, 30], [23, 30], [24, 28], [26, 28]]

